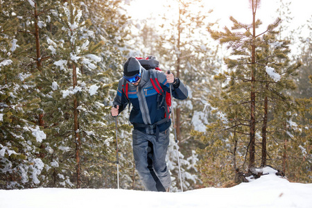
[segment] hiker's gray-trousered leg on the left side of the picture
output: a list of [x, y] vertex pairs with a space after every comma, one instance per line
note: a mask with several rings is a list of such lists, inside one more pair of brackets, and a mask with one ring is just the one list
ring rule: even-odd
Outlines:
[[135, 168], [139, 173], [144, 188], [148, 191], [157, 191], [155, 179], [148, 166], [148, 135], [139, 130], [133, 130], [132, 146]]

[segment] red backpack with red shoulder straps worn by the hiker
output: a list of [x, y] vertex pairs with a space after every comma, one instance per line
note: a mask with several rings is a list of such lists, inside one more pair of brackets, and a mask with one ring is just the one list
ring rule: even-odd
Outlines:
[[[140, 62], [141, 66], [144, 67], [144, 69], [149, 70], [149, 69], [156, 69], [158, 71], [162, 71], [161, 69], [159, 69], [159, 62], [155, 59], [154, 55], [150, 55], [147, 58], [138, 58], [136, 57], [137, 60]], [[155, 77], [154, 73], [151, 73], [151, 78], [150, 78], [150, 82], [152, 83], [154, 89], [156, 90], [156, 92], [163, 96], [164, 98], [166, 98], [166, 103], [165, 103], [165, 109], [166, 109], [166, 113], [165, 113], [165, 118], [166, 119], [170, 119], [170, 111], [169, 111], [169, 107], [171, 106], [171, 94], [166, 92], [166, 95], [164, 94], [164, 90], [162, 89], [162, 87], [159, 84], [159, 81], [157, 79], [157, 77]], [[125, 96], [128, 98], [128, 89], [129, 89], [129, 84], [125, 83], [123, 84], [123, 93], [125, 94]], [[129, 105], [130, 108], [130, 105]], [[169, 114], [169, 116], [167, 117], [166, 115]]]

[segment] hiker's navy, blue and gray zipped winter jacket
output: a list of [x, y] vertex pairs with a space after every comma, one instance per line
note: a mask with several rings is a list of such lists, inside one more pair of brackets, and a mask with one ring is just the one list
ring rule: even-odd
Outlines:
[[[143, 68], [143, 67], [142, 67]], [[153, 74], [152, 74], [153, 73]], [[123, 85], [126, 84], [125, 79], [119, 80], [116, 97], [114, 98], [114, 105], [119, 105], [119, 113], [125, 109], [130, 102], [132, 110], [130, 112], [130, 123], [134, 124], [134, 128], [148, 134], [155, 133], [155, 128], [150, 129], [148, 125], [153, 125], [165, 118], [165, 100], [154, 89], [150, 78], [155, 76], [158, 79], [160, 86], [164, 92], [169, 92], [169, 84], [167, 83], [166, 74], [155, 69], [143, 69], [140, 83], [137, 87], [128, 85], [128, 98], [123, 92]], [[176, 78], [177, 83], [172, 87], [172, 94], [174, 98], [184, 100], [188, 96], [187, 87]], [[170, 95], [170, 94], [168, 94]], [[146, 128], [135, 125], [136, 123], [145, 124]], [[171, 125], [171, 120], [158, 125], [159, 132], [163, 132]]]

